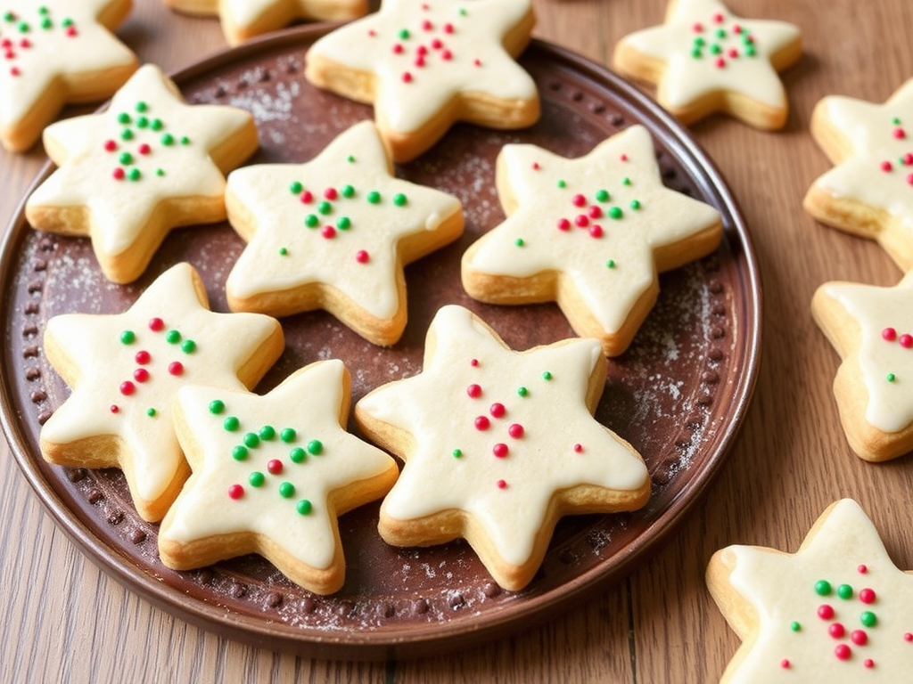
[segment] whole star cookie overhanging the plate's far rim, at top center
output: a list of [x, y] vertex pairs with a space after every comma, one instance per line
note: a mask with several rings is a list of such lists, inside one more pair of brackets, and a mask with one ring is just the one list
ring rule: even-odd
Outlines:
[[315, 42], [305, 77], [373, 103], [394, 161], [409, 161], [457, 120], [521, 129], [539, 119], [536, 85], [514, 61], [534, 24], [530, 0], [383, 0]]

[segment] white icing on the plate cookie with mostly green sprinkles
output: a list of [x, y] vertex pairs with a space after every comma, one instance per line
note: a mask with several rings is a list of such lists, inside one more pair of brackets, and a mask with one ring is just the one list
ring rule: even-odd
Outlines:
[[[336, 512], [327, 505], [328, 495], [353, 482], [379, 477], [394, 463], [383, 451], [341, 428], [343, 372], [340, 360], [318, 361], [262, 397], [208, 387], [181, 389], [178, 401], [191, 432], [185, 446], [189, 453], [198, 454], [199, 462], [191, 464], [194, 474], [166, 516], [160, 538], [190, 543], [213, 535], [253, 532], [268, 537], [300, 563], [330, 567], [336, 552]], [[221, 414], [209, 409], [214, 399], [225, 404]], [[239, 419], [236, 431], [225, 429], [228, 416]], [[259, 433], [264, 426], [274, 428], [275, 437], [259, 440], [247, 450], [246, 459], [236, 461], [235, 447], [247, 433]], [[293, 440], [281, 439], [286, 428], [295, 430]], [[311, 440], [320, 441], [319, 453], [308, 451]], [[307, 454], [301, 462], [289, 458], [296, 448]], [[281, 472], [269, 472], [271, 460], [281, 461]], [[264, 475], [260, 486], [250, 483], [252, 472]], [[291, 496], [279, 493], [282, 482], [294, 485]], [[233, 484], [244, 488], [238, 499], [228, 495]], [[310, 513], [298, 512], [302, 500], [310, 502]], [[365, 502], [357, 502], [361, 503]]]

